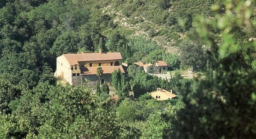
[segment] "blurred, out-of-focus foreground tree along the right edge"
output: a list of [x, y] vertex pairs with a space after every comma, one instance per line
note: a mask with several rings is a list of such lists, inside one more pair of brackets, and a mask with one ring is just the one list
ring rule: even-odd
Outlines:
[[[230, 5], [233, 6], [228, 7]], [[243, 36], [238, 35], [247, 36], [255, 30], [255, 26], [251, 26], [255, 13], [250, 12], [255, 3], [227, 1], [225, 6], [228, 8], [224, 12], [218, 5], [212, 7], [216, 17], [212, 22], [208, 17], [195, 19], [195, 35], [210, 48], [212, 61], [208, 69], [214, 72], [212, 76], [212, 70], [207, 70], [206, 77], [197, 80], [197, 90], [183, 90], [184, 105], [177, 113], [174, 108], [170, 109], [169, 118], [177, 119], [170, 122], [173, 128], [165, 129], [173, 133], [165, 133], [172, 138], [254, 138], [256, 135], [253, 123], [256, 120], [253, 116], [256, 114], [256, 71], [245, 60], [252, 52], [243, 49], [255, 49], [255, 42], [241, 41]]]

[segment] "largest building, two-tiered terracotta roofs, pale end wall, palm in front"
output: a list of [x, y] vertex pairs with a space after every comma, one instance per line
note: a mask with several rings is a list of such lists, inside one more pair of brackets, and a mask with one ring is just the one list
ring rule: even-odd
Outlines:
[[57, 58], [55, 77], [63, 78], [71, 85], [81, 86], [86, 81], [88, 86], [94, 86], [99, 77], [96, 75], [98, 66], [102, 67], [103, 75], [100, 83], [111, 83], [111, 74], [122, 68], [121, 53], [79, 53], [64, 54]]

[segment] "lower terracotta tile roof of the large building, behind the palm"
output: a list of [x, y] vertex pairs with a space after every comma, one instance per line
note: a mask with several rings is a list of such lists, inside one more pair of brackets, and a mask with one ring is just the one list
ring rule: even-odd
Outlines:
[[[85, 69], [81, 69], [81, 74], [96, 75], [97, 68], [98, 67], [86, 67]], [[122, 66], [102, 66], [103, 74], [111, 74], [115, 69], [120, 69], [122, 73], [125, 73]]]

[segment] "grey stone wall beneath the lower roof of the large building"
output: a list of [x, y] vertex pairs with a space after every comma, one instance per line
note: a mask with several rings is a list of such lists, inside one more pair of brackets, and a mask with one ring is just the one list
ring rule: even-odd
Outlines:
[[[93, 87], [99, 81], [99, 77], [97, 75], [82, 75], [82, 82], [87, 82], [87, 86]], [[112, 75], [111, 74], [103, 74], [100, 76], [100, 81], [104, 79], [105, 83], [112, 82]]]

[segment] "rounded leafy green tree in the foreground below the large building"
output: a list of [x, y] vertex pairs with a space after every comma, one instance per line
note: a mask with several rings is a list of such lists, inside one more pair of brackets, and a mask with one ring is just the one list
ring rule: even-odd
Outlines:
[[120, 128], [109, 103], [95, 100], [85, 88], [57, 86], [52, 105], [43, 111], [43, 138], [116, 138]]

